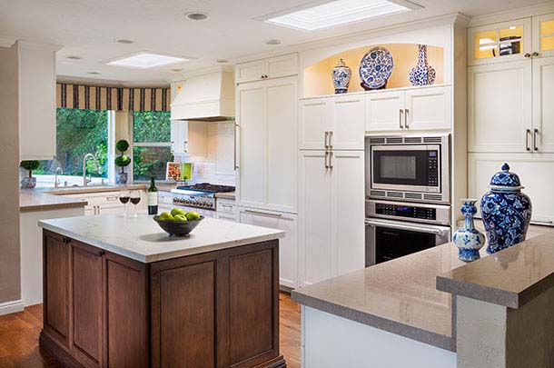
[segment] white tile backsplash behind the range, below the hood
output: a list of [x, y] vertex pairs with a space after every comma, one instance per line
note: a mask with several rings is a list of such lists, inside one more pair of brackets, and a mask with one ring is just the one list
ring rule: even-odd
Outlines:
[[207, 156], [175, 156], [177, 162], [193, 163], [193, 183], [235, 185], [234, 172], [234, 122], [210, 122], [208, 124]]

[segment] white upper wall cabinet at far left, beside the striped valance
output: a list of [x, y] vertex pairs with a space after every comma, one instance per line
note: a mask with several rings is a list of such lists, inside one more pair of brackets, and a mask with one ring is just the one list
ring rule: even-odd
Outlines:
[[55, 155], [55, 52], [58, 46], [18, 42], [19, 159]]

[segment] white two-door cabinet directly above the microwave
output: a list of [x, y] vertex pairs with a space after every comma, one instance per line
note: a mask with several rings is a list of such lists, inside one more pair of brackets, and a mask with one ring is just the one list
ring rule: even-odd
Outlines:
[[367, 132], [450, 129], [451, 87], [431, 86], [365, 95]]

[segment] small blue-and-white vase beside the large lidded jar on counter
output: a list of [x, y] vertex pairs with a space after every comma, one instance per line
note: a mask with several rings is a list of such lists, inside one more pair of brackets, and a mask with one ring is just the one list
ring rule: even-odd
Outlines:
[[465, 262], [473, 262], [480, 259], [479, 251], [485, 245], [485, 235], [475, 228], [473, 216], [477, 214], [477, 199], [464, 198], [460, 212], [465, 217], [463, 227], [458, 229], [452, 241], [458, 247], [458, 258]]

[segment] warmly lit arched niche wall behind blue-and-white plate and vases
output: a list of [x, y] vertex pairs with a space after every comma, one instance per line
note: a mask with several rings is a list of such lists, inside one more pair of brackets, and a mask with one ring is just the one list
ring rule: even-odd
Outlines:
[[[319, 62], [308, 65], [303, 69], [303, 97], [316, 97], [325, 94], [334, 94], [331, 70], [341, 58], [352, 71], [351, 83], [348, 92], [364, 91], [360, 85], [359, 66], [363, 55], [372, 47], [381, 46], [388, 49], [394, 59], [394, 69], [387, 83], [387, 89], [410, 87], [410, 71], [418, 63], [417, 44], [376, 44], [364, 45], [351, 50], [326, 57]], [[427, 46], [427, 61], [435, 68], [437, 76], [434, 85], [444, 83], [444, 49], [440, 46]]]

